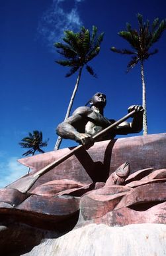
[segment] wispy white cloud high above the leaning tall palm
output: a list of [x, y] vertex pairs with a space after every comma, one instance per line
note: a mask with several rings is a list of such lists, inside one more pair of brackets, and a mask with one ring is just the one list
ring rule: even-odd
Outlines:
[[83, 25], [78, 11], [78, 3], [83, 1], [53, 0], [51, 7], [43, 14], [38, 25], [38, 33], [52, 51], [54, 43], [61, 41], [63, 31], [77, 31]]

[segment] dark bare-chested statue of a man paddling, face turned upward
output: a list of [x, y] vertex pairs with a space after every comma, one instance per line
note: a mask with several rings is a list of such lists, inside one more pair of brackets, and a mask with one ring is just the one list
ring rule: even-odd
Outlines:
[[[80, 106], [73, 114], [64, 122], [58, 125], [56, 132], [62, 138], [69, 138], [83, 144], [86, 149], [94, 144], [93, 136], [116, 122], [109, 120], [103, 116], [104, 106], [106, 105], [106, 95], [102, 92], [97, 92], [87, 104], [88, 106]], [[87, 105], [86, 104], [86, 105]], [[128, 112], [136, 109], [136, 114], [133, 116], [132, 122], [122, 122], [114, 130], [111, 130], [99, 140], [110, 140], [116, 134], [136, 133], [142, 130], [142, 117], [144, 108], [142, 106], [134, 105], [128, 108]]]

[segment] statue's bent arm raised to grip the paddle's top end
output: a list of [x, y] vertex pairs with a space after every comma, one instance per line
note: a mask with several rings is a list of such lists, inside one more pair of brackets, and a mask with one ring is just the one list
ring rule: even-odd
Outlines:
[[133, 105], [128, 108], [128, 112], [136, 110], [136, 113], [133, 116], [132, 122], [122, 122], [119, 126], [116, 127], [116, 134], [132, 134], [142, 131], [143, 126], [143, 114], [144, 108], [139, 105]]

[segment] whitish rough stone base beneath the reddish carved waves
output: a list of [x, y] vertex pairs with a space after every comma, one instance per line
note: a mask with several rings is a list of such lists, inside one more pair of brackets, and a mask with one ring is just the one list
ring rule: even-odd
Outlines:
[[45, 239], [24, 256], [165, 256], [166, 225], [108, 227], [91, 224]]

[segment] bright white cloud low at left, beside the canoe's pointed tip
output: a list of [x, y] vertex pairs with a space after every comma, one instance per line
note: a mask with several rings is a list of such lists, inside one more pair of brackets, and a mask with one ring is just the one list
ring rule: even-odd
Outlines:
[[19, 164], [17, 162], [17, 157], [13, 156], [9, 158], [8, 160], [5, 160], [5, 158], [1, 158], [0, 163], [0, 188], [3, 188], [12, 182], [15, 182], [15, 180], [21, 178], [24, 176], [28, 168], [26, 166], [22, 166], [22, 164]]

